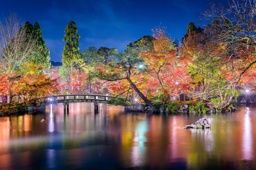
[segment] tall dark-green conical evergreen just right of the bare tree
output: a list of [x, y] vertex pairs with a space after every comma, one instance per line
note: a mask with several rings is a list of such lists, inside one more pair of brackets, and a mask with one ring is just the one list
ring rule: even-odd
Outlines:
[[35, 53], [30, 60], [38, 65], [44, 65], [45, 68], [50, 68], [50, 50], [46, 47], [41, 27], [37, 21], [34, 23], [31, 39], [35, 42]]

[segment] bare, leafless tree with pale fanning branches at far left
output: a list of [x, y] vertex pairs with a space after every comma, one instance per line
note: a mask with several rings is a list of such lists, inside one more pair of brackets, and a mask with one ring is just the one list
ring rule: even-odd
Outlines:
[[15, 14], [0, 20], [0, 72], [12, 77], [29, 60], [34, 44]]

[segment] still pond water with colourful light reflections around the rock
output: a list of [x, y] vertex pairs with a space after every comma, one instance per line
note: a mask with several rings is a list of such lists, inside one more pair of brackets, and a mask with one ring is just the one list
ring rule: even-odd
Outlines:
[[[211, 129], [181, 127], [205, 117]], [[44, 119], [45, 121], [41, 122]], [[256, 169], [256, 107], [124, 113], [91, 103], [0, 117], [0, 169]]]

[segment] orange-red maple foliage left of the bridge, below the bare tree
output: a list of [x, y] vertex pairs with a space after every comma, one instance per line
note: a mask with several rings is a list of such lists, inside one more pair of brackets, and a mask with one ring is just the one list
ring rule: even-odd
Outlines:
[[2, 94], [10, 96], [10, 103], [14, 96], [24, 95], [29, 100], [58, 94], [61, 87], [54, 79], [41, 71], [41, 67], [33, 62], [22, 66], [19, 73], [23, 73], [19, 80], [9, 80], [6, 74], [1, 74], [0, 89]]

